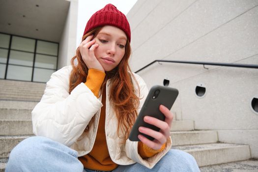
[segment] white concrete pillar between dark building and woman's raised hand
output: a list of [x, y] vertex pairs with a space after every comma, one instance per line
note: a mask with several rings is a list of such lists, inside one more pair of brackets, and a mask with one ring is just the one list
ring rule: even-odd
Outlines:
[[59, 42], [57, 68], [70, 65], [71, 58], [76, 54], [76, 34], [78, 18], [78, 0], [69, 0], [70, 7], [67, 14], [62, 37]]

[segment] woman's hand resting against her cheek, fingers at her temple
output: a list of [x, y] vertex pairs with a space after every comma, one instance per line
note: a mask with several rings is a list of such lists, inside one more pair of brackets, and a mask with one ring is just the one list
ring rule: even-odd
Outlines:
[[105, 72], [104, 68], [95, 57], [94, 51], [99, 45], [95, 44], [96, 41], [94, 39], [91, 40], [92, 37], [93, 35], [89, 35], [82, 41], [79, 45], [80, 53], [88, 69], [93, 68]]

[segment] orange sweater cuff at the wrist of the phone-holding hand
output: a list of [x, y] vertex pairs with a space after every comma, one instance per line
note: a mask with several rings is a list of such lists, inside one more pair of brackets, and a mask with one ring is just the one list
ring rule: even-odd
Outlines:
[[138, 153], [139, 155], [144, 158], [149, 158], [154, 156], [156, 153], [161, 152], [165, 149], [166, 143], [164, 143], [159, 150], [154, 150], [148, 147], [146, 144], [139, 142], [138, 143]]

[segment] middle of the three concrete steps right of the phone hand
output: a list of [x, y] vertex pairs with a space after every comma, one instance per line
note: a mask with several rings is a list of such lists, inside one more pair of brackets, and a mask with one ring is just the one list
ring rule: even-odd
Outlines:
[[171, 138], [174, 146], [218, 142], [216, 131], [173, 131]]

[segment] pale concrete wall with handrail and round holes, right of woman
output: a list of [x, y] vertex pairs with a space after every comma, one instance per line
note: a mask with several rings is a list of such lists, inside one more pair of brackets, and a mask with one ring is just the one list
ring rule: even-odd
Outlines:
[[[127, 15], [136, 71], [155, 59], [258, 64], [258, 0], [138, 0]], [[153, 64], [138, 74], [148, 87], [164, 79], [179, 90], [172, 111], [195, 129], [218, 130], [219, 140], [249, 144], [258, 158], [258, 69]], [[195, 88], [206, 86], [199, 98]]]

